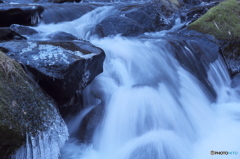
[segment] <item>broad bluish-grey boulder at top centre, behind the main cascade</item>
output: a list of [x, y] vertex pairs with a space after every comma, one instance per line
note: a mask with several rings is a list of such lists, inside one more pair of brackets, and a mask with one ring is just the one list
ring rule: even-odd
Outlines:
[[137, 4], [116, 6], [119, 13], [104, 18], [93, 34], [99, 37], [121, 34], [137, 36], [145, 32], [170, 29], [174, 24], [174, 10], [163, 4]]

